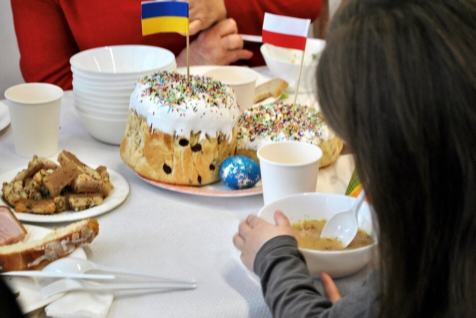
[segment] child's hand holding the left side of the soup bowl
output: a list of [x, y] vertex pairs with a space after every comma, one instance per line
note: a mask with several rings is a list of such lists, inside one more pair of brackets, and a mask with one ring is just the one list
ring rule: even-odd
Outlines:
[[294, 236], [289, 220], [283, 212], [275, 212], [275, 221], [276, 225], [256, 215], [249, 215], [238, 226], [238, 233], [233, 236], [233, 244], [242, 251], [241, 259], [248, 269], [253, 271], [256, 254], [267, 241], [280, 235]]

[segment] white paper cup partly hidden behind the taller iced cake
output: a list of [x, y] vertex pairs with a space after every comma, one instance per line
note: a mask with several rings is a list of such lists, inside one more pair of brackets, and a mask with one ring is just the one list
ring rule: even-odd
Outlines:
[[205, 76], [231, 87], [242, 110], [253, 106], [257, 72], [245, 66], [223, 66], [205, 72]]

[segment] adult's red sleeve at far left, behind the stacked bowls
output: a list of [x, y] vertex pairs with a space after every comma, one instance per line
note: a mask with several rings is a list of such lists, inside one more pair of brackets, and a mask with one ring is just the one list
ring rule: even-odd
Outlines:
[[71, 89], [69, 59], [79, 49], [58, 1], [11, 3], [24, 80]]

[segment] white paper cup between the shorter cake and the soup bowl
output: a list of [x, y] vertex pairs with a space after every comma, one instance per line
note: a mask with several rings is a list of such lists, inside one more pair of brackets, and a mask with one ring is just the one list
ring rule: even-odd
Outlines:
[[299, 141], [276, 142], [258, 149], [265, 205], [294, 193], [315, 192], [322, 150]]

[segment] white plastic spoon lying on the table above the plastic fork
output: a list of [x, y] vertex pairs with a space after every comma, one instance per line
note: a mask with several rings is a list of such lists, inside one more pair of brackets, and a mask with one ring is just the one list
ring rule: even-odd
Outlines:
[[60, 273], [61, 272], [85, 273], [93, 269], [108, 272], [108, 273], [119, 273], [119, 274], [132, 275], [132, 276], [157, 278], [162, 280], [181, 282], [184, 284], [195, 284], [194, 279], [187, 280], [187, 279], [180, 279], [175, 277], [166, 277], [166, 276], [160, 276], [155, 274], [131, 271], [127, 269], [104, 266], [104, 265], [96, 264], [87, 259], [75, 258], [75, 257], [65, 257], [65, 258], [57, 259], [54, 262], [51, 262], [50, 264], [46, 265], [45, 268], [43, 268], [44, 271], [52, 271], [52, 272], [60, 272]]

